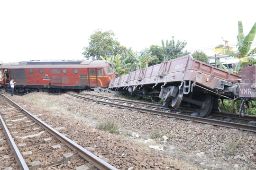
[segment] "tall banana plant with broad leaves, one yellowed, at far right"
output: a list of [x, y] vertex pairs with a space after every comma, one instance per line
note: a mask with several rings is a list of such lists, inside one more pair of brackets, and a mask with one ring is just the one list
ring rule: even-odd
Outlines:
[[[247, 63], [248, 58], [246, 59], [241, 59], [244, 57], [249, 57], [252, 54], [256, 53], [256, 48], [251, 50], [251, 45], [252, 42], [254, 40], [256, 34], [256, 23], [254, 24], [254, 26], [251, 28], [251, 31], [249, 32], [249, 34], [247, 34], [247, 36], [245, 37], [244, 33], [243, 33], [243, 25], [241, 21], [238, 21], [238, 36], [237, 36], [237, 40], [238, 40], [238, 52], [234, 52], [232, 49], [213, 49], [213, 52], [216, 53], [221, 53], [221, 54], [226, 54], [229, 56], [234, 56], [240, 59], [240, 61], [237, 64], [237, 67], [235, 68], [235, 72], [238, 72], [242, 67], [245, 66], [245, 64]], [[252, 59], [251, 59], [252, 60]]]

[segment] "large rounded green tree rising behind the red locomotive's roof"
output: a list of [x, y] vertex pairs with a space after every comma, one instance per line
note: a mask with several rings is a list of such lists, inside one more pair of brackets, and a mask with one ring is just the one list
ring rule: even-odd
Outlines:
[[100, 56], [116, 56], [126, 51], [126, 47], [120, 45], [120, 42], [114, 38], [113, 31], [96, 30], [89, 38], [89, 46], [83, 47], [82, 54], [85, 58], [100, 59]]

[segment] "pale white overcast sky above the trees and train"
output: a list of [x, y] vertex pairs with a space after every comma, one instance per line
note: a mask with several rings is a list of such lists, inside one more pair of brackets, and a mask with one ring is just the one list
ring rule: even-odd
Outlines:
[[238, 21], [249, 33], [255, 7], [256, 0], [0, 0], [0, 61], [82, 59], [97, 29], [134, 51], [174, 36], [185, 50], [213, 55], [222, 36], [236, 46]]

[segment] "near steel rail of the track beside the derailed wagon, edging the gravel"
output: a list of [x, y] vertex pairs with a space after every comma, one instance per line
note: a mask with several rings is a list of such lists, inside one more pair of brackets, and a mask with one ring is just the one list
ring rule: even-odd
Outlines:
[[127, 106], [127, 105], [124, 106], [124, 105], [118, 104], [118, 103], [95, 100], [95, 99], [91, 99], [88, 97], [84, 97], [84, 96], [76, 95], [76, 94], [72, 94], [72, 93], [69, 93], [69, 94], [73, 95], [74, 97], [86, 99], [88, 101], [94, 101], [94, 102], [102, 103], [105, 105], [116, 106], [119, 108], [125, 108], [125, 109], [129, 109], [129, 110], [138, 110], [141, 112], [152, 113], [152, 114], [162, 115], [162, 116], [167, 116], [167, 117], [172, 117], [172, 118], [178, 118], [178, 119], [183, 119], [183, 120], [192, 120], [195, 122], [206, 123], [206, 124], [210, 124], [210, 125], [217, 125], [217, 126], [230, 127], [230, 128], [239, 128], [241, 130], [256, 132], [256, 126], [245, 125], [245, 124], [240, 124], [240, 123], [233, 123], [233, 122], [226, 122], [226, 121], [221, 121], [221, 120], [207, 119], [207, 118], [201, 118], [201, 117], [194, 117], [194, 116], [188, 116], [188, 115], [182, 115], [182, 114], [175, 114], [175, 113], [152, 110], [152, 109], [150, 110], [150, 109], [146, 109], [146, 108], [138, 108], [138, 107]]

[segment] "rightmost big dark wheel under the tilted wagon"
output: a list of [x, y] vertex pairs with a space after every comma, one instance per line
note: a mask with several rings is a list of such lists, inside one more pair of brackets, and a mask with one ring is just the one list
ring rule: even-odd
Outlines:
[[203, 106], [199, 109], [199, 114], [201, 117], [206, 117], [212, 111], [214, 99], [210, 94], [205, 95], [203, 99]]

